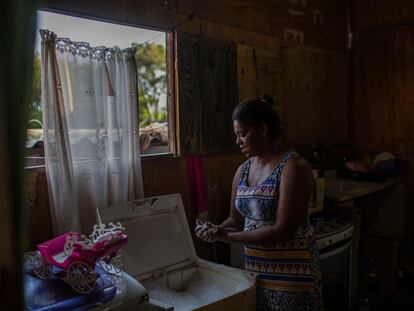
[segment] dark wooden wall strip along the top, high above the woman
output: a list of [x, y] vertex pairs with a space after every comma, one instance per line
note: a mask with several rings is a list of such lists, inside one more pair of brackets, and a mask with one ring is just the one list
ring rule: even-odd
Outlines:
[[[287, 39], [298, 34], [302, 43], [343, 49], [346, 1], [329, 0], [210, 0], [183, 1], [178, 11], [238, 29]], [[192, 4], [189, 4], [192, 2]]]

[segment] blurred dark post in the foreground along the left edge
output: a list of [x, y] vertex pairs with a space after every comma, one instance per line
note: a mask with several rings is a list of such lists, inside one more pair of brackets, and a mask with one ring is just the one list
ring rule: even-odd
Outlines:
[[23, 153], [32, 92], [35, 1], [1, 1], [0, 301], [23, 309]]

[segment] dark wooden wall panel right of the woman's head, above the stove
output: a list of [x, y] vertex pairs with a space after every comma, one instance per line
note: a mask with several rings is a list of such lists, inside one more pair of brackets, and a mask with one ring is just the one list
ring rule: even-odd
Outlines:
[[282, 96], [288, 100], [282, 109], [287, 143], [346, 143], [349, 120], [344, 55], [285, 48], [282, 65]]

